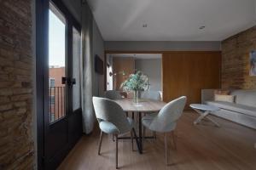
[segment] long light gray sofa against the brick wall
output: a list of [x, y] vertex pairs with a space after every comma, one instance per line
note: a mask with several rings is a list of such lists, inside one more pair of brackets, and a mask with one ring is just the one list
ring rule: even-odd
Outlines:
[[256, 129], [256, 90], [231, 90], [230, 95], [236, 95], [235, 103], [214, 101], [214, 89], [202, 89], [201, 102], [220, 108], [213, 115]]

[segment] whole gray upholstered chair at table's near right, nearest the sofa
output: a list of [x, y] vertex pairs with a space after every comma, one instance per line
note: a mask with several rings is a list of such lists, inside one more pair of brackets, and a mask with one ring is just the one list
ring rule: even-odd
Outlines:
[[149, 130], [159, 133], [165, 133], [166, 164], [168, 164], [167, 152], [167, 133], [172, 132], [172, 141], [176, 146], [174, 129], [178, 118], [182, 115], [187, 98], [185, 96], [174, 99], [163, 107], [158, 114], [143, 116], [143, 137], [145, 136], [145, 127]]

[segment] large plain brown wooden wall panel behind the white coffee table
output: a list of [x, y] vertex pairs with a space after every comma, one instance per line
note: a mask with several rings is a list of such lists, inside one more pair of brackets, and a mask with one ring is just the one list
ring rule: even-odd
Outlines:
[[162, 57], [163, 99], [185, 95], [186, 109], [201, 103], [201, 89], [220, 87], [220, 52], [170, 52]]

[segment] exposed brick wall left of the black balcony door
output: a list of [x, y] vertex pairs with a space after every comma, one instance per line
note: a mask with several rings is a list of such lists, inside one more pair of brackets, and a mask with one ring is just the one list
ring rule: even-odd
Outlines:
[[31, 1], [0, 1], [0, 169], [34, 166]]

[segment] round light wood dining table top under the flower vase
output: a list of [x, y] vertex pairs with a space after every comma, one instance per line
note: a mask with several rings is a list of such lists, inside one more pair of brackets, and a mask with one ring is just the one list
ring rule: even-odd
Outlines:
[[139, 105], [133, 102], [133, 99], [115, 99], [124, 111], [133, 112], [157, 112], [160, 111], [166, 103], [153, 99], [140, 99]]

